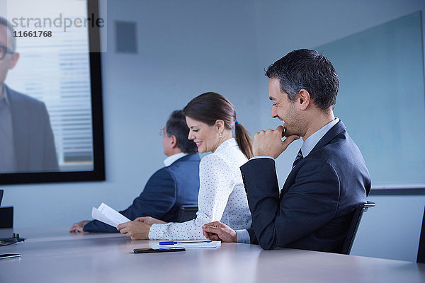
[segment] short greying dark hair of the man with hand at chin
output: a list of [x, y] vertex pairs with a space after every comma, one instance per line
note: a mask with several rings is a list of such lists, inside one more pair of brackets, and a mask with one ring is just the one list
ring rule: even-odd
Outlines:
[[317, 107], [332, 109], [339, 91], [339, 80], [331, 62], [315, 50], [294, 50], [270, 65], [266, 76], [279, 79], [280, 91], [293, 101], [302, 88], [310, 93]]

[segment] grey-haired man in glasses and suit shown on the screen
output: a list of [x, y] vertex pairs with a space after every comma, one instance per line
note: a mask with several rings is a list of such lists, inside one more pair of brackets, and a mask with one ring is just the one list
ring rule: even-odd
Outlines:
[[4, 83], [18, 60], [13, 28], [0, 17], [0, 173], [59, 171], [45, 103]]

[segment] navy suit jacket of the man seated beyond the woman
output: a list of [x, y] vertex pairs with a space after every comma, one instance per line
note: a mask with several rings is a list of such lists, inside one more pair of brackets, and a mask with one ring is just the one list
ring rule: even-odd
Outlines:
[[[149, 178], [140, 196], [120, 213], [130, 220], [152, 216], [175, 222], [181, 205], [198, 204], [199, 162], [198, 154], [188, 154], [170, 166], [159, 169]], [[87, 223], [84, 231], [118, 232], [115, 227], [98, 220]]]

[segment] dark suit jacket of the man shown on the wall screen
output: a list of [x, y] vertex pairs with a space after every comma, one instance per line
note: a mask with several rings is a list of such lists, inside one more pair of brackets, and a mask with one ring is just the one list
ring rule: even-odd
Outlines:
[[46, 105], [4, 86], [11, 103], [16, 171], [58, 171], [55, 139]]

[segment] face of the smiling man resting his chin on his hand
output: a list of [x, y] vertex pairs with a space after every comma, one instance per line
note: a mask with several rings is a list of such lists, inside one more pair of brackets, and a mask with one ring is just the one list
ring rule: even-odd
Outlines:
[[302, 137], [303, 121], [297, 109], [296, 101], [290, 101], [288, 95], [280, 91], [279, 79], [268, 81], [268, 98], [272, 101], [271, 117], [283, 121], [285, 132], [283, 135], [289, 137], [293, 134]]

